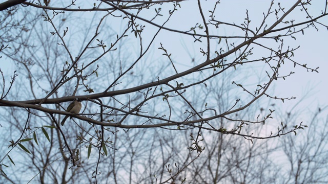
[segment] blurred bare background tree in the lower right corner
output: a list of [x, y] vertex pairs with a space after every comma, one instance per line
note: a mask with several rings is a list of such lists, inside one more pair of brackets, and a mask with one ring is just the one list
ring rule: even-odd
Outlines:
[[[298, 120], [301, 113], [298, 111], [288, 113], [284, 119], [288, 122]], [[309, 113], [309, 112], [308, 112]], [[326, 143], [327, 117], [326, 106], [318, 108], [317, 111], [309, 114], [309, 129], [300, 132], [302, 139], [293, 139], [290, 135], [283, 137], [281, 141], [281, 152], [287, 162], [278, 163], [283, 165], [281, 171], [283, 177], [279, 178], [280, 183], [325, 183], [328, 181], [328, 162]], [[278, 169], [278, 168], [277, 168]]]

